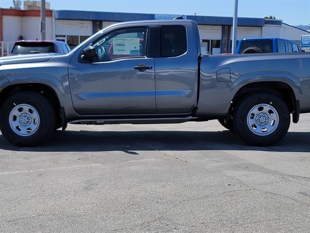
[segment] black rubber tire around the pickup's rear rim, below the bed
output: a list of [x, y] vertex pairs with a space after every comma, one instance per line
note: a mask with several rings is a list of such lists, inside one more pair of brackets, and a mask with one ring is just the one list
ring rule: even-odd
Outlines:
[[[278, 126], [274, 127], [268, 135], [257, 135], [248, 126], [249, 112], [260, 104], [272, 106], [278, 112]], [[291, 116], [287, 104], [279, 95], [273, 93], [256, 93], [246, 96], [237, 103], [233, 114], [235, 132], [252, 146], [270, 146], [279, 142], [288, 132], [290, 123]], [[269, 124], [269, 119], [267, 124]]]

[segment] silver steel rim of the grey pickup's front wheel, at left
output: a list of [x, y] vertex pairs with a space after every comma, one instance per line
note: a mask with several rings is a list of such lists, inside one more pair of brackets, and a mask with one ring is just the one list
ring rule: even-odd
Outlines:
[[40, 116], [37, 110], [29, 104], [16, 105], [9, 115], [11, 129], [19, 136], [30, 136], [40, 125]]

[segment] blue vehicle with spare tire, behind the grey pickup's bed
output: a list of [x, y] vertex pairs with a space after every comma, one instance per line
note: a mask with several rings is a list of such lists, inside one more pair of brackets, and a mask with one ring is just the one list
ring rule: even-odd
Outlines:
[[241, 39], [237, 46], [238, 54], [274, 52], [300, 52], [300, 49], [294, 40], [266, 37]]

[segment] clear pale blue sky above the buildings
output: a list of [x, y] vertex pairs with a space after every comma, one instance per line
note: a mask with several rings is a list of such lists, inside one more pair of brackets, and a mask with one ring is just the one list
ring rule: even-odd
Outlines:
[[[198, 16], [233, 16], [234, 0], [47, 0], [54, 10], [85, 10]], [[13, 0], [0, 0], [0, 8]], [[310, 0], [239, 0], [238, 17], [275, 16], [292, 25], [310, 24]]]

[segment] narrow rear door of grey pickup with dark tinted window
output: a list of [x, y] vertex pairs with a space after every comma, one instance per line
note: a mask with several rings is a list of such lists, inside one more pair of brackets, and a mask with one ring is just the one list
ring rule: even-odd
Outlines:
[[159, 114], [182, 114], [197, 104], [198, 51], [191, 22], [156, 27], [155, 96]]

